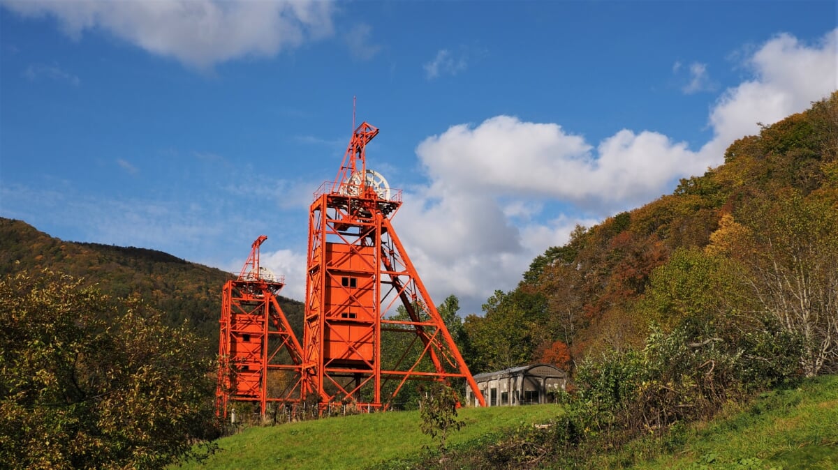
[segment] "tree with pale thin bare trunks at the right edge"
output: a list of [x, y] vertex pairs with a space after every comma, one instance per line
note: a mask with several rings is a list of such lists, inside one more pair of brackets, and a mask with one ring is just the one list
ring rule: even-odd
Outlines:
[[753, 207], [746, 227], [737, 258], [753, 298], [803, 338], [806, 375], [838, 370], [838, 203], [791, 192]]

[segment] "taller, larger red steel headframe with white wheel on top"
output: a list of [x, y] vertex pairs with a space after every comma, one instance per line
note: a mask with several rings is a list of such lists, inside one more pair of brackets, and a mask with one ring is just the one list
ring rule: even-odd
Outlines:
[[[358, 126], [338, 176], [314, 194], [303, 380], [321, 406], [372, 411], [395, 405], [407, 381], [459, 378], [485, 406], [391, 224], [401, 191], [391, 191], [383, 176], [366, 167], [366, 145], [377, 134], [366, 122]], [[398, 306], [404, 309], [393, 315]]]

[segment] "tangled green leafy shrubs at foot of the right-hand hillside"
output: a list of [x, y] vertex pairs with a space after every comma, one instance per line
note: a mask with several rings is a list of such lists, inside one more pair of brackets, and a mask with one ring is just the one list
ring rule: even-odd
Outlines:
[[799, 350], [799, 340], [776, 330], [691, 342], [683, 329], [653, 328], [643, 350], [611, 351], [579, 367], [571, 415], [587, 437], [606, 433], [619, 442], [623, 434], [661, 433], [798, 376]]

